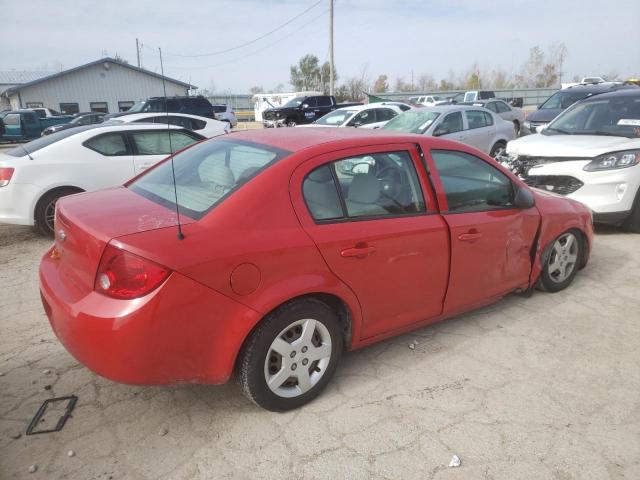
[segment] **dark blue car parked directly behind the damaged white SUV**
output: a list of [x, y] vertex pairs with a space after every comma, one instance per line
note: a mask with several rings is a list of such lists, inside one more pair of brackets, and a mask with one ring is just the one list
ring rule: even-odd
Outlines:
[[573, 85], [564, 88], [547, 99], [538, 110], [527, 115], [522, 124], [520, 135], [536, 133], [538, 127], [547, 125], [551, 120], [560, 115], [564, 110], [576, 102], [584, 100], [592, 95], [613, 92], [623, 88], [638, 88], [633, 85], [620, 85], [617, 83], [599, 83], [595, 85]]

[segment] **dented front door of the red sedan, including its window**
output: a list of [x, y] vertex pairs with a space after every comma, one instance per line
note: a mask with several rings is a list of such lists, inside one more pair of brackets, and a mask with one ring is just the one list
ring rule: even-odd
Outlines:
[[451, 231], [445, 314], [526, 287], [538, 210], [516, 208], [516, 185], [488, 161], [455, 150], [432, 150], [430, 156], [442, 215]]

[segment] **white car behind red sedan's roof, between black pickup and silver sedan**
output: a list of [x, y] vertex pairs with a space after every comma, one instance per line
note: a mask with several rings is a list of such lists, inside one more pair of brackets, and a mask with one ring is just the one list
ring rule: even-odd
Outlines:
[[402, 113], [398, 105], [388, 103], [370, 103], [368, 105], [355, 105], [353, 107], [338, 108], [327, 113], [303, 127], [356, 127], [356, 128], [381, 128], [389, 120]]

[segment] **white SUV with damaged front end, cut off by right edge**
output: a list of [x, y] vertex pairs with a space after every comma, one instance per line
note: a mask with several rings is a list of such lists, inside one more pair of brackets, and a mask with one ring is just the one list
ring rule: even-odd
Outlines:
[[499, 161], [532, 187], [584, 203], [594, 222], [640, 233], [640, 88], [574, 104], [509, 142]]

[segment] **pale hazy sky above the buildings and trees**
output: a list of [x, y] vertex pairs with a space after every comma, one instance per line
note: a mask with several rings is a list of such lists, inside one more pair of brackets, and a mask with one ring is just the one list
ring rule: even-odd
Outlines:
[[[200, 88], [288, 89], [289, 67], [302, 56], [328, 59], [329, 2], [0, 0], [0, 70], [57, 70], [116, 54], [136, 64], [139, 38], [143, 67], [160, 71], [160, 47], [165, 74]], [[386, 74], [392, 85], [412, 74], [439, 80], [474, 62], [481, 75], [514, 74], [531, 47], [558, 42], [568, 50], [566, 80], [640, 75], [640, 0], [335, 0], [334, 19], [338, 83], [362, 72]]]

